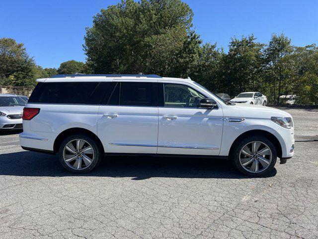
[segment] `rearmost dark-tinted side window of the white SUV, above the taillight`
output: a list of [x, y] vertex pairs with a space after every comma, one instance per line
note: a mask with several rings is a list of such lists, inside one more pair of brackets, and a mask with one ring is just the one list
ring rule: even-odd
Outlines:
[[98, 105], [112, 86], [112, 82], [39, 83], [32, 92], [29, 103]]

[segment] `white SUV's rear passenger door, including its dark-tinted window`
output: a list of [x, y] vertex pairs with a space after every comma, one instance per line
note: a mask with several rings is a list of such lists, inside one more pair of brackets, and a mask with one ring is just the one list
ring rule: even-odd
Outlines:
[[108, 153], [157, 153], [157, 81], [115, 82], [100, 105], [97, 134]]

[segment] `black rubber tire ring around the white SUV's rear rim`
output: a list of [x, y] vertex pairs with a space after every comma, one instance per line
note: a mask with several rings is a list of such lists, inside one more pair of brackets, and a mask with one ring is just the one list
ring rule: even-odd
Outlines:
[[[91, 145], [93, 150], [94, 150], [93, 162], [87, 168], [84, 168], [84, 169], [81, 169], [81, 170], [76, 170], [76, 169], [73, 169], [73, 168], [69, 167], [69, 165], [64, 161], [64, 158], [63, 158], [64, 147], [65, 147], [65, 145], [67, 143], [69, 143], [70, 141], [72, 141], [74, 139], [83, 139], [83, 140], [87, 141]], [[66, 170], [68, 170], [69, 172], [77, 173], [77, 174], [87, 173], [87, 172], [93, 170], [99, 164], [99, 162], [101, 161], [101, 159], [102, 159], [102, 150], [100, 149], [98, 144], [95, 142], [95, 140], [92, 139], [91, 137], [89, 137], [87, 135], [84, 135], [84, 134], [74, 134], [74, 135], [66, 137], [62, 141], [62, 143], [60, 145], [60, 148], [59, 148], [59, 159], [60, 159], [60, 162], [61, 162], [62, 166]]]

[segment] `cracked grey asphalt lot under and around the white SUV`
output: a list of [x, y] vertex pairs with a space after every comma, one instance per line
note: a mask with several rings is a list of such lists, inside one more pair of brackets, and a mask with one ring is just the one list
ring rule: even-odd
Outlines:
[[318, 109], [288, 109], [295, 156], [268, 177], [227, 160], [111, 157], [72, 175], [0, 134], [0, 239], [317, 239]]

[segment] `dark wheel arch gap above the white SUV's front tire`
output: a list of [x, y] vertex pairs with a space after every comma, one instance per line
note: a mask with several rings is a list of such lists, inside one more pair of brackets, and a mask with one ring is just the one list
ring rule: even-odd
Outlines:
[[230, 152], [229, 152], [229, 155], [231, 154], [233, 148], [234, 148], [234, 145], [242, 138], [244, 137], [247, 137], [247, 136], [255, 136], [255, 135], [262, 135], [266, 138], [268, 138], [269, 140], [271, 140], [276, 148], [276, 151], [277, 151], [277, 157], [281, 158], [282, 157], [282, 145], [280, 144], [278, 138], [266, 131], [266, 130], [262, 130], [262, 129], [252, 129], [252, 130], [248, 130], [248, 131], [245, 131], [243, 132], [242, 134], [240, 134], [232, 143], [231, 145], [231, 148], [230, 148]]

